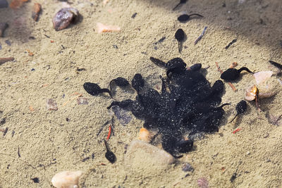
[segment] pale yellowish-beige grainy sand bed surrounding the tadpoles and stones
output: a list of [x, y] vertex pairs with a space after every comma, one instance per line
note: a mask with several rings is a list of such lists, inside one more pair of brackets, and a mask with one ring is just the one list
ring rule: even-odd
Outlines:
[[[38, 22], [31, 18], [35, 2], [42, 5]], [[142, 120], [133, 118], [125, 126], [116, 120], [109, 145], [117, 161], [109, 163], [102, 142], [108, 127], [99, 136], [97, 132], [111, 120], [106, 109], [111, 99], [90, 96], [82, 87], [84, 82], [107, 87], [110, 80], [118, 76], [131, 80], [135, 73], [141, 73], [152, 87], [160, 86], [159, 75], [165, 71], [150, 62], [150, 56], [164, 61], [180, 57], [188, 65], [210, 66], [207, 80], [212, 83], [220, 77], [215, 62], [222, 70], [234, 61], [239, 68], [276, 70], [268, 61], [282, 62], [281, 0], [246, 0], [242, 4], [236, 0], [189, 0], [176, 11], [172, 8], [178, 1], [168, 0], [109, 0], [105, 6], [102, 1], [70, 2], [83, 18], [59, 32], [51, 19], [61, 7], [68, 6], [66, 2], [31, 0], [18, 10], [0, 9], [1, 22], [9, 24], [0, 38], [0, 57], [15, 58], [0, 65], [0, 115], [6, 120], [0, 128], [8, 127], [5, 136], [0, 132], [0, 187], [50, 187], [51, 177], [63, 170], [84, 171], [82, 187], [198, 187], [201, 177], [207, 179], [209, 187], [281, 187], [282, 127], [266, 118], [266, 113], [282, 113], [278, 81], [274, 82], [278, 94], [260, 101], [262, 112], [254, 102], [248, 102], [247, 113], [233, 123], [228, 121], [235, 115], [235, 105], [244, 99], [245, 89], [254, 78], [243, 74], [234, 83], [237, 92], [226, 84], [223, 103], [230, 102], [231, 106], [224, 107], [226, 116], [219, 133], [195, 142], [194, 151], [173, 165], [139, 171], [125, 165], [124, 152], [125, 144], [137, 137]], [[179, 23], [177, 17], [183, 11], [200, 13], [204, 18]], [[135, 18], [131, 18], [133, 13], [137, 13]], [[97, 22], [118, 25], [121, 32], [97, 34]], [[194, 45], [204, 26], [204, 37]], [[181, 54], [174, 39], [178, 28], [187, 35]], [[162, 37], [166, 37], [164, 42], [154, 44]], [[225, 49], [235, 38], [237, 42]], [[5, 43], [7, 39], [11, 46]], [[73, 99], [78, 94], [89, 104], [78, 105]], [[128, 96], [133, 97], [120, 89], [116, 99]], [[56, 101], [58, 111], [47, 110], [47, 99]], [[237, 127], [241, 130], [233, 134]], [[82, 162], [87, 157], [90, 159]], [[193, 173], [181, 170], [185, 162], [195, 168]], [[231, 182], [234, 173], [237, 175]], [[31, 180], [35, 177], [39, 183]]]

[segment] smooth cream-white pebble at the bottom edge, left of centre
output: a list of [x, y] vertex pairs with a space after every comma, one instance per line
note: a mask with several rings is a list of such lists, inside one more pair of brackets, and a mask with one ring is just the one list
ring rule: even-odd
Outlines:
[[52, 178], [51, 182], [56, 188], [78, 188], [78, 180], [82, 171], [63, 171], [57, 173]]

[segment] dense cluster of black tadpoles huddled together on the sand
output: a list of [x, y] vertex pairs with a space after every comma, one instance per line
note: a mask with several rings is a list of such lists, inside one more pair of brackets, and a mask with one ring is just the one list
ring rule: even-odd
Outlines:
[[[163, 149], [176, 155], [192, 150], [193, 140], [184, 135], [198, 132], [217, 132], [224, 115], [221, 95], [224, 84], [217, 80], [212, 86], [199, 71], [200, 64], [186, 68], [181, 58], [165, 63], [157, 58], [150, 60], [166, 69], [167, 77], [161, 77], [161, 92], [144, 86], [142, 75], [136, 74], [131, 81], [137, 91], [135, 100], [113, 101], [108, 109], [118, 106], [131, 111], [144, 120], [144, 127], [161, 134]], [[221, 104], [221, 105], [220, 105]]]

